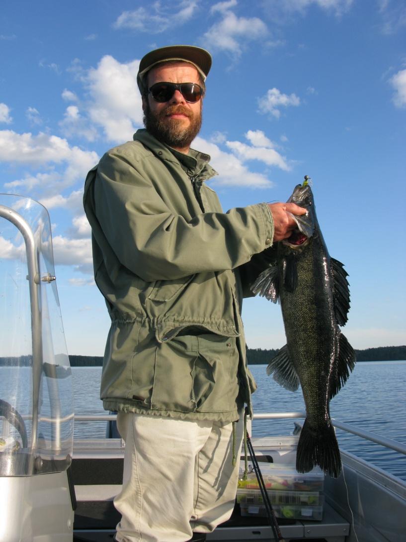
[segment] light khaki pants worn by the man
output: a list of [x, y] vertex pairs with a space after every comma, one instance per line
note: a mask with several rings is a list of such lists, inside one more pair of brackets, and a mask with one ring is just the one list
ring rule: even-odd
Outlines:
[[126, 442], [119, 542], [185, 542], [230, 518], [238, 481], [243, 414], [236, 424], [119, 412]]

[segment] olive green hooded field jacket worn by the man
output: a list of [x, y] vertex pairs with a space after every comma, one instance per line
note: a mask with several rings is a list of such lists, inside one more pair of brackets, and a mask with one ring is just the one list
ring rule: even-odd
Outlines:
[[224, 213], [208, 160], [139, 130], [88, 173], [95, 281], [112, 320], [107, 410], [234, 421], [251, 408], [241, 301], [266, 264], [272, 215], [262, 203]]

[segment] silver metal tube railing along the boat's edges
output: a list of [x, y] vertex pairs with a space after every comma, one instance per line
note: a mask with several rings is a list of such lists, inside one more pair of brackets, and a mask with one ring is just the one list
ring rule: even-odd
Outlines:
[[[253, 420], [285, 420], [289, 418], [305, 418], [306, 412], [257, 412], [253, 416]], [[75, 415], [75, 422], [96, 422], [105, 421], [112, 422], [117, 418], [116, 414], [77, 414]], [[346, 431], [346, 433], [352, 433], [365, 440], [381, 444], [385, 448], [395, 450], [400, 454], [406, 455], [406, 444], [392, 440], [391, 438], [385, 438], [371, 431], [364, 431], [351, 425], [349, 423], [343, 423], [332, 418], [332, 424], [335, 428]]]

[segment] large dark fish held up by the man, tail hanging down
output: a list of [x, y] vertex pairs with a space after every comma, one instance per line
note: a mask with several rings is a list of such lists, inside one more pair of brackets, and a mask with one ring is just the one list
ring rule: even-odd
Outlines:
[[348, 321], [350, 292], [343, 263], [333, 259], [316, 216], [311, 180], [305, 176], [289, 198], [306, 214], [292, 215], [291, 236], [276, 243], [270, 266], [253, 283], [254, 294], [280, 302], [286, 345], [267, 366], [267, 374], [287, 390], [299, 384], [306, 406], [300, 431], [296, 470], [317, 465], [338, 478], [341, 458], [330, 417], [330, 401], [348, 380], [356, 356], [340, 331]]

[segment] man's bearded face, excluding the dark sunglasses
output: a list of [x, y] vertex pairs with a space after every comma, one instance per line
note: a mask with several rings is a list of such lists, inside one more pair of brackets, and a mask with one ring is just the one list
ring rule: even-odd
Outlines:
[[[150, 88], [162, 81], [171, 83], [197, 83], [198, 70], [187, 62], [161, 64], [147, 74]], [[148, 132], [173, 149], [187, 152], [201, 126], [202, 100], [191, 104], [176, 89], [172, 98], [164, 103], [156, 102], [150, 94], [142, 96], [144, 124]]]

